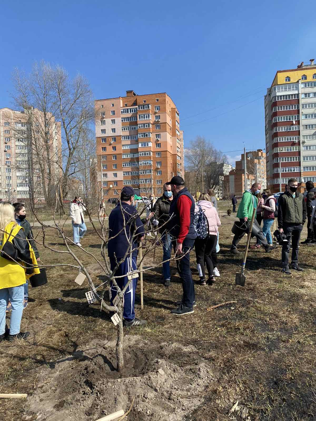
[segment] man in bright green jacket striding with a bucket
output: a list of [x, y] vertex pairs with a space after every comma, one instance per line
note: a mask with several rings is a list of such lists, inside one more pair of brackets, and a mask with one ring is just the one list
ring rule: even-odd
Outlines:
[[[253, 210], [254, 208], [257, 208], [258, 204], [258, 199], [255, 195], [259, 194], [260, 190], [261, 184], [254, 183], [252, 184], [250, 189], [244, 192], [237, 212], [237, 218], [240, 219], [241, 223], [250, 226]], [[267, 239], [263, 235], [262, 229], [256, 219], [254, 219], [254, 225], [257, 226], [257, 229], [259, 230], [257, 234], [254, 234], [255, 237], [257, 237], [257, 239], [260, 240], [262, 246], [265, 248], [265, 251], [269, 253], [275, 247], [268, 244]], [[237, 244], [242, 239], [242, 237], [244, 237], [245, 234], [246, 231], [241, 231], [240, 233], [234, 235], [233, 243], [230, 248], [230, 253], [239, 253], [239, 251], [237, 250]]]

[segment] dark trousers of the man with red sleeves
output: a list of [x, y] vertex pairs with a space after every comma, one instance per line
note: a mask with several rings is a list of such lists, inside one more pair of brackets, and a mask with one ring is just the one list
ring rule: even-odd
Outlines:
[[[173, 241], [174, 249], [177, 245], [176, 241]], [[182, 253], [186, 253], [187, 250], [192, 250], [194, 247], [194, 240], [185, 238], [182, 243]], [[177, 256], [176, 256], [177, 257]], [[194, 283], [190, 270], [190, 251], [186, 253], [181, 259], [177, 260], [177, 269], [182, 280], [183, 289], [183, 304], [190, 309], [193, 308], [193, 301], [195, 301]]]

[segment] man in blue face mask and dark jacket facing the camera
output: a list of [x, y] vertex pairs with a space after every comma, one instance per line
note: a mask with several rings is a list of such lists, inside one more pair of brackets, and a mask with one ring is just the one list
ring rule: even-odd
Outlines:
[[159, 197], [153, 207], [153, 212], [155, 212], [153, 224], [155, 221], [158, 221], [158, 229], [161, 234], [161, 241], [163, 247], [163, 284], [165, 287], [171, 285], [171, 274], [170, 274], [170, 261], [171, 258], [171, 246], [172, 246], [172, 237], [167, 230], [167, 223], [169, 221], [169, 210], [170, 204], [173, 200], [171, 186], [167, 184], [163, 185], [163, 195]]

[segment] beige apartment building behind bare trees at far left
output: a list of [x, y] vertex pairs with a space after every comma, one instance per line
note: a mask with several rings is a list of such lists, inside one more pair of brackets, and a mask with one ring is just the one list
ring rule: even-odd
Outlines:
[[61, 149], [61, 123], [51, 113], [0, 109], [0, 200], [24, 201], [32, 194], [43, 201], [43, 186], [54, 195]]

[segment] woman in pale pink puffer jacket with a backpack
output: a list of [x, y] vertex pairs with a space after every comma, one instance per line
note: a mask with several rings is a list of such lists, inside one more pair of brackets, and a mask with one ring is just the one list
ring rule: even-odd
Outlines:
[[[218, 216], [216, 208], [212, 205], [211, 197], [207, 193], [202, 193], [198, 199], [198, 205], [204, 210], [204, 214], [209, 222], [209, 236], [204, 238], [197, 238], [195, 240], [195, 255], [196, 263], [201, 266], [202, 276], [200, 277], [201, 285], [206, 285], [205, 281], [205, 266], [206, 263], [207, 272], [209, 272], [208, 284], [212, 285], [214, 282], [214, 266], [211, 258], [212, 251], [216, 248], [217, 243], [217, 232], [220, 226], [220, 218]], [[195, 206], [195, 213], [198, 212], [198, 206]]]

